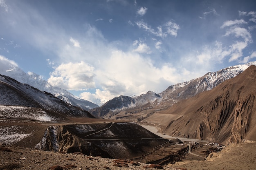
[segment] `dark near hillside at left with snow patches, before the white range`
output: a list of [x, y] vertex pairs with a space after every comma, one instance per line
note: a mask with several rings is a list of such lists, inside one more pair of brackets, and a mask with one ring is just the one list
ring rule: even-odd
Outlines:
[[93, 116], [47, 92], [0, 75], [0, 117], [58, 121], [65, 117]]

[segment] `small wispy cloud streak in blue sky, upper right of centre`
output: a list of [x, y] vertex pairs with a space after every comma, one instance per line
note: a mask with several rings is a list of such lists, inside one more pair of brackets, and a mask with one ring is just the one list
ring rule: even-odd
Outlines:
[[177, 32], [180, 29], [180, 26], [176, 24], [175, 22], [168, 21], [163, 25], [157, 26], [157, 31], [153, 28], [151, 28], [150, 25], [148, 25], [146, 22], [143, 20], [140, 20], [138, 22], [135, 22], [135, 24], [139, 27], [144, 29], [145, 31], [161, 37], [161, 38], [166, 38], [167, 35], [172, 35], [172, 36], [177, 36]]

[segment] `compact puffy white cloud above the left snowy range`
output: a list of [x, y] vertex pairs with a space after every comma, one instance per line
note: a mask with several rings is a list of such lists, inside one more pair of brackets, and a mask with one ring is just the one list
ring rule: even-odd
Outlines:
[[94, 67], [81, 61], [61, 64], [50, 73], [48, 82], [67, 90], [88, 90], [94, 88]]

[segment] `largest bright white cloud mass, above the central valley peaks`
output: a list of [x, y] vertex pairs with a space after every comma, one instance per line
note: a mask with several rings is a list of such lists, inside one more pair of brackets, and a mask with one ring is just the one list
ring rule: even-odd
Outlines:
[[102, 63], [104, 64], [94, 71], [94, 81], [101, 88], [97, 88], [94, 94], [86, 92], [81, 96], [93, 96], [95, 100], [100, 96], [103, 102], [117, 95], [146, 93], [148, 90], [155, 90], [156, 86], [164, 90], [181, 78], [172, 65], [166, 63], [157, 68], [150, 58], [144, 58], [135, 52], [112, 51], [110, 58]]

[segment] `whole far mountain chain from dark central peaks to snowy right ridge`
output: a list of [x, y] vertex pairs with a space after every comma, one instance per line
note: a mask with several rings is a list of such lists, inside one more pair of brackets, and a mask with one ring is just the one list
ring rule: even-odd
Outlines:
[[94, 116], [110, 118], [124, 110], [132, 109], [131, 113], [139, 113], [145, 109], [157, 111], [168, 108], [183, 99], [213, 89], [225, 80], [236, 77], [236, 75], [242, 73], [251, 65], [256, 65], [256, 62], [230, 66], [217, 72], [209, 72], [202, 77], [192, 79], [188, 82], [169, 86], [165, 91], [159, 94], [149, 91], [138, 97], [115, 97], [106, 102], [103, 106], [90, 110], [90, 113]]

